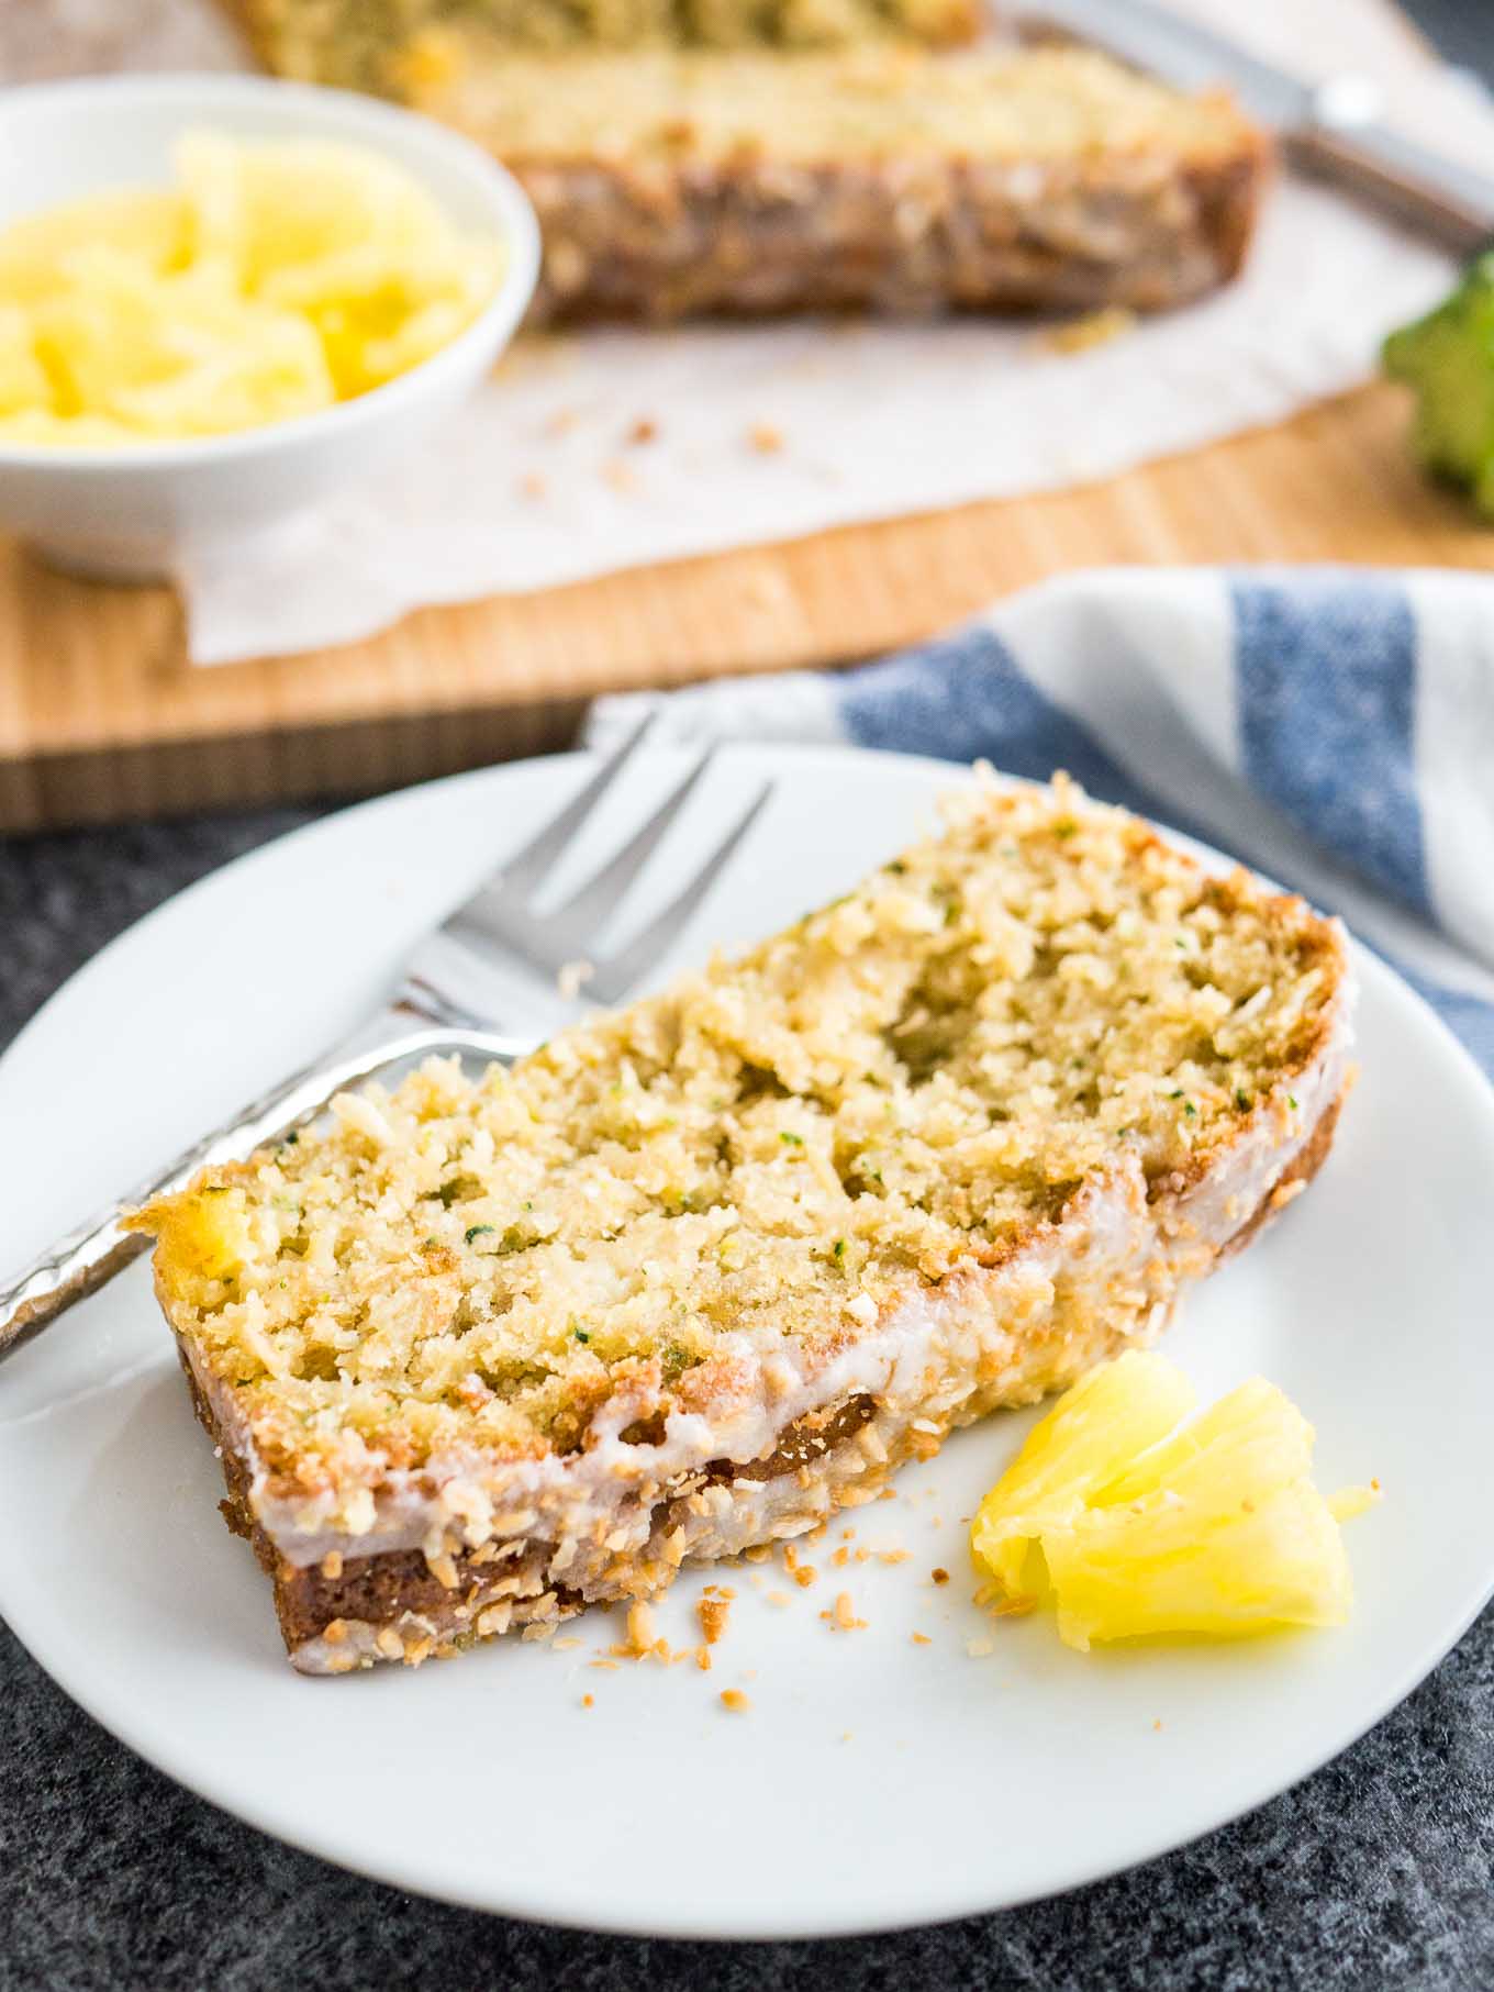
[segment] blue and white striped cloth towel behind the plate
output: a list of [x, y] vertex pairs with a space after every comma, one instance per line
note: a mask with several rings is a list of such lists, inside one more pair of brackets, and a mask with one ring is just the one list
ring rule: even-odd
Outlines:
[[1494, 1078], [1494, 580], [1100, 570], [843, 673], [602, 699], [663, 741], [849, 741], [1092, 795], [1341, 912]]

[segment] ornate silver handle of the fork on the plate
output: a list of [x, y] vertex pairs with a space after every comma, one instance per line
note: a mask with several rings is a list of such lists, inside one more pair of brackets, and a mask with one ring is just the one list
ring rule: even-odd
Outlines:
[[243, 1161], [265, 1141], [315, 1120], [327, 1102], [347, 1086], [371, 1078], [402, 1058], [440, 1052], [474, 1052], [490, 1060], [514, 1060], [530, 1050], [528, 1040], [494, 1032], [408, 1030], [398, 1012], [384, 1012], [333, 1054], [305, 1066], [259, 1100], [251, 1100], [233, 1120], [193, 1141], [165, 1169], [139, 1183], [129, 1195], [98, 1211], [66, 1237], [50, 1245], [4, 1289], [0, 1289], [0, 1361], [56, 1321], [74, 1301], [96, 1293], [149, 1245], [149, 1237], [124, 1229], [127, 1209], [183, 1189], [199, 1169]]

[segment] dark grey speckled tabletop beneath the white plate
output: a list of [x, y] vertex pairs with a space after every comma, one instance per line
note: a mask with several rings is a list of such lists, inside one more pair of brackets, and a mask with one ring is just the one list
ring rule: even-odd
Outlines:
[[[1488, 62], [1494, 0], [1420, 0], [1418, 12], [1450, 54]], [[0, 1044], [114, 932], [297, 821], [277, 811], [0, 843]], [[1486, 1528], [1488, 1516], [1468, 1526]], [[994, 1791], [992, 1835], [1020, 1821], [1020, 1793]], [[679, 1831], [697, 1831], [683, 1807]], [[576, 1855], [586, 1859], [584, 1817]], [[785, 1845], [763, 1857], [835, 1851], [793, 1843], [789, 1799]], [[765, 1948], [528, 1928], [343, 1874], [159, 1777], [0, 1625], [0, 1992], [705, 1982], [721, 1992], [1490, 1988], [1494, 1614], [1355, 1749], [1197, 1847], [1004, 1916]]]

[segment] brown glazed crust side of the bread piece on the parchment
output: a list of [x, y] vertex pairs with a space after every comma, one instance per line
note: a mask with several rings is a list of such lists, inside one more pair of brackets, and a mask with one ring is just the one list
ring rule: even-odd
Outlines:
[[[1068, 169], [1036, 193], [958, 159], [797, 169], [510, 157], [548, 243], [534, 321], [871, 309], [1167, 311], [1239, 273], [1265, 141], [1165, 175]], [[1054, 217], [1050, 221], [1050, 217]], [[1062, 225], [1058, 223], [1062, 219]]]

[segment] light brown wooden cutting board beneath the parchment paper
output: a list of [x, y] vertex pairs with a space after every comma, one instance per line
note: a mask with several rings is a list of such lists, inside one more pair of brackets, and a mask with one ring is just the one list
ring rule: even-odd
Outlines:
[[[1384, 32], [1384, 16], [1378, 18]], [[0, 538], [0, 831], [359, 795], [564, 745], [600, 691], [835, 663], [1070, 568], [1494, 570], [1388, 386], [1114, 482], [422, 610], [335, 651], [195, 669], [167, 590]]]

